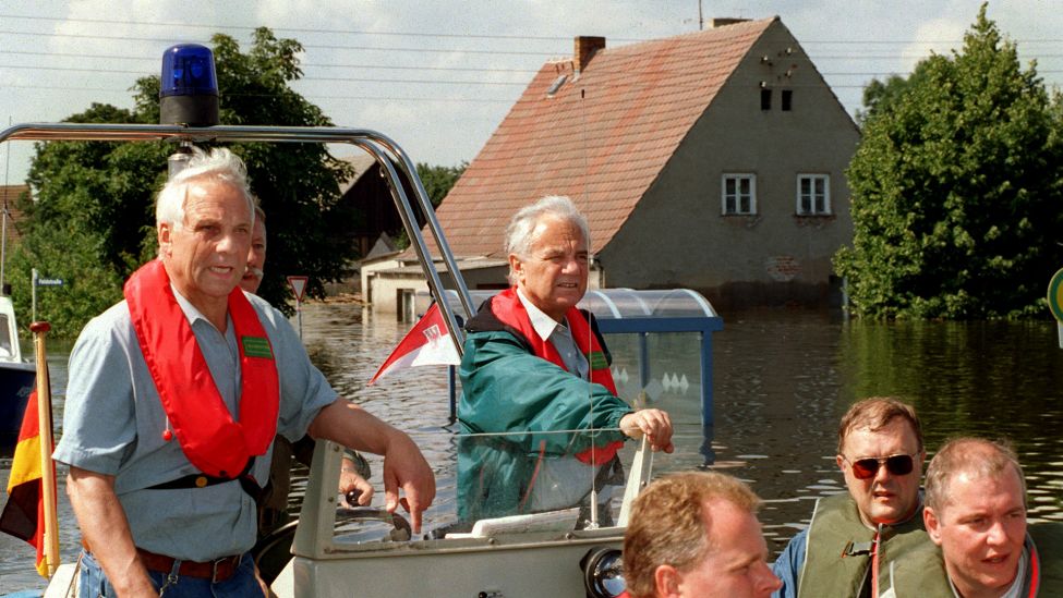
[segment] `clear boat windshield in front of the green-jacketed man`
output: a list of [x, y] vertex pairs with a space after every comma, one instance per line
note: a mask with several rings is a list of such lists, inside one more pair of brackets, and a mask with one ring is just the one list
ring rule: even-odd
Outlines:
[[396, 537], [392, 525], [399, 525], [383, 513], [375, 517], [369, 516], [370, 510], [341, 508], [333, 540], [348, 547], [392, 539], [446, 544], [500, 533], [560, 537], [615, 527], [638, 443], [601, 449], [595, 444], [618, 434], [603, 429], [454, 435], [454, 468], [436, 472], [436, 501], [446, 507], [425, 514], [421, 535]]

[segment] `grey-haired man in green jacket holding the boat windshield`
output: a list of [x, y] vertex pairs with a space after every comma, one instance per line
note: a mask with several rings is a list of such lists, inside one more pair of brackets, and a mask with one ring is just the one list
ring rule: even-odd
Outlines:
[[673, 450], [668, 415], [617, 396], [604, 339], [576, 307], [590, 234], [572, 202], [548, 196], [518, 211], [506, 253], [512, 286], [466, 326], [458, 514], [467, 522], [587, 507], [592, 487], [618, 471], [625, 436]]

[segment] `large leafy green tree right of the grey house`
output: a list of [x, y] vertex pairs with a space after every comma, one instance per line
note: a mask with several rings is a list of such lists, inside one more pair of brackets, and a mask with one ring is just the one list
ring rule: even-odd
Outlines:
[[1063, 263], [1060, 106], [978, 19], [869, 113], [847, 170], [853, 247], [835, 256], [870, 317], [1044, 315]]

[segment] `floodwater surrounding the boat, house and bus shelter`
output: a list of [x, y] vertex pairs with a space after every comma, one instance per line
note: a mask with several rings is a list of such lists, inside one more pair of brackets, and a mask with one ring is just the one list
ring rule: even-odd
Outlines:
[[[714, 344], [714, 426], [701, 425], [698, 342], [651, 339], [654, 402], [676, 422], [676, 452], [657, 455], [654, 474], [722, 468], [765, 499], [761, 513], [773, 551], [801, 528], [818, 497], [844, 491], [834, 465], [837, 422], [854, 401], [896, 395], [920, 414], [932, 453], [950, 436], [1006, 437], [1026, 467], [1031, 520], [1063, 521], [1063, 350], [1054, 322], [845, 321], [818, 312], [725, 315]], [[304, 306], [307, 350], [340, 394], [408, 430], [433, 464], [438, 496], [427, 521], [454, 513], [454, 427], [444, 368], [396, 374], [366, 387], [409, 325], [370, 318], [352, 304]], [[621, 394], [639, 390], [636, 343], [611, 337]], [[57, 408], [65, 355], [53, 353]], [[686, 385], [683, 383], [686, 381]], [[57, 414], [57, 418], [58, 418]], [[374, 462], [378, 476], [379, 463]], [[10, 460], [0, 460], [0, 487]], [[60, 472], [62, 475], [62, 472]], [[379, 487], [378, 479], [375, 480]], [[62, 556], [76, 557], [78, 536], [60, 490]], [[33, 549], [0, 535], [0, 594], [40, 587]]]

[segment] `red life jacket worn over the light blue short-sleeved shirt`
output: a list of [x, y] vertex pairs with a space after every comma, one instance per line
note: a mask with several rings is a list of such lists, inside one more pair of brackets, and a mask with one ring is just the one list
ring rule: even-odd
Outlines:
[[136, 340], [184, 455], [207, 475], [241, 475], [254, 455], [269, 449], [280, 408], [273, 349], [251, 302], [240, 286], [229, 294], [241, 371], [240, 422], [233, 422], [162, 263], [133, 272], [124, 292]]

